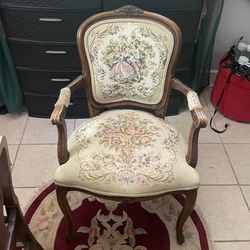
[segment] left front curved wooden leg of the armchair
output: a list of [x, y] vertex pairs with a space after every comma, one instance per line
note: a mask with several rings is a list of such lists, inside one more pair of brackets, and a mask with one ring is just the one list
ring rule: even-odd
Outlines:
[[65, 216], [67, 223], [68, 223], [68, 232], [66, 236], [66, 240], [68, 242], [73, 241], [73, 232], [74, 232], [74, 224], [73, 224], [73, 217], [72, 217], [72, 211], [69, 206], [68, 200], [67, 200], [67, 193], [68, 189], [61, 186], [56, 186], [56, 197], [57, 202], [59, 204], [59, 207]]

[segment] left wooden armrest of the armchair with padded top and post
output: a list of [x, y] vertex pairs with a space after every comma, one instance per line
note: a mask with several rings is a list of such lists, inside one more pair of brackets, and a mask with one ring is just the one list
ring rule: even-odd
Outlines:
[[55, 108], [50, 117], [51, 123], [57, 126], [57, 156], [60, 165], [67, 162], [69, 159], [69, 151], [67, 147], [67, 126], [65, 122], [67, 107], [70, 103], [71, 93], [81, 87], [84, 87], [84, 76], [82, 75], [78, 76], [69, 85], [61, 90], [59, 98], [55, 104]]

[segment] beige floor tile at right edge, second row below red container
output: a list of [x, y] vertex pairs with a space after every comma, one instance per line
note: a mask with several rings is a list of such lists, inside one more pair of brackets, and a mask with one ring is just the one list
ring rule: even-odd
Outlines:
[[225, 144], [240, 184], [250, 184], [250, 144]]

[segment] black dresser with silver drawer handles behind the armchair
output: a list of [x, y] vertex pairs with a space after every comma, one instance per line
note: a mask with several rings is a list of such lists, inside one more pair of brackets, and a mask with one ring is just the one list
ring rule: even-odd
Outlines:
[[[0, 0], [0, 14], [30, 116], [49, 117], [59, 91], [81, 74], [76, 32], [89, 16], [134, 4], [174, 20], [183, 32], [176, 76], [187, 81], [202, 0]], [[177, 114], [173, 91], [168, 114]], [[68, 118], [88, 117], [83, 89], [73, 93]]]

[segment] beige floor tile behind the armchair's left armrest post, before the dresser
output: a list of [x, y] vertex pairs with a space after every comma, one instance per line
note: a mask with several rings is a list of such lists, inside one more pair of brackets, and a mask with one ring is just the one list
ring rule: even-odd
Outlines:
[[[70, 135], [74, 129], [74, 119], [67, 119], [67, 132]], [[24, 132], [22, 144], [57, 143], [57, 128], [50, 119], [29, 117]]]

